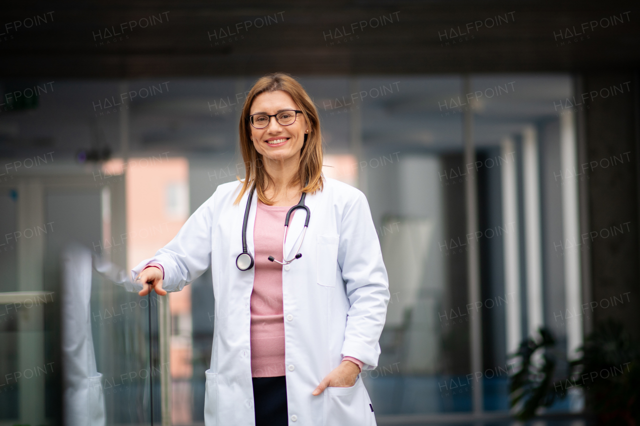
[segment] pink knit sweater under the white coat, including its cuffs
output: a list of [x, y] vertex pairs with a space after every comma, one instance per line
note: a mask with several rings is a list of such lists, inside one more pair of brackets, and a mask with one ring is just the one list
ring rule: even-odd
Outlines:
[[[269, 206], [258, 200], [253, 226], [255, 276], [250, 303], [252, 377], [285, 375], [282, 265], [270, 262], [268, 257], [273, 256], [282, 261], [284, 219], [289, 209], [291, 207]], [[294, 214], [291, 214], [291, 219]], [[162, 269], [164, 278], [162, 265], [147, 265], [150, 266]], [[360, 369], [364, 365], [359, 359], [350, 356], [344, 359], [353, 361]]]

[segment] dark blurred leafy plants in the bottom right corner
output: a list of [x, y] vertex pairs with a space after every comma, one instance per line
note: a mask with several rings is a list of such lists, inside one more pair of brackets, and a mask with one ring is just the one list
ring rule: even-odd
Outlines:
[[586, 407], [599, 425], [640, 424], [640, 345], [621, 322], [600, 322], [580, 348], [582, 357], [569, 363], [568, 374], [556, 381], [555, 345], [552, 333], [541, 327], [536, 338], [525, 339], [511, 355], [520, 365], [509, 384], [518, 420], [531, 419], [540, 407], [552, 406], [575, 388], [584, 391]]

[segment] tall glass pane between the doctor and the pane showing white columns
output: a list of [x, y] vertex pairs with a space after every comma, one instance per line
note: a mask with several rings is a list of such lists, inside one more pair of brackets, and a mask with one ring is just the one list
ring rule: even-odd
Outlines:
[[360, 118], [360, 189], [378, 229], [392, 296], [379, 367], [363, 374], [379, 415], [471, 409], [469, 392], [442, 391], [470, 363], [468, 173], [462, 113], [450, 102], [460, 84], [456, 77], [358, 79], [359, 93], [368, 95]]

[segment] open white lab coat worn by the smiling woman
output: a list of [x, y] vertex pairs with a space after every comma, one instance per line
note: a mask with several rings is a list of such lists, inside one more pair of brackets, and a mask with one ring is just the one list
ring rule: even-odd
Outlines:
[[[179, 291], [211, 266], [215, 320], [211, 368], [206, 372], [205, 425], [253, 426], [250, 297], [254, 268], [240, 271], [242, 225], [248, 191], [233, 205], [241, 184], [218, 186], [176, 237], [149, 262], [164, 267], [163, 288]], [[253, 250], [258, 197], [253, 196], [246, 239]], [[311, 211], [302, 257], [282, 269], [285, 368], [289, 425], [369, 426], [375, 417], [358, 375], [355, 386], [312, 391], [343, 356], [378, 365], [378, 339], [389, 300], [387, 270], [364, 194], [327, 178], [322, 192], [307, 194]], [[294, 255], [305, 214], [296, 210], [285, 244]], [[284, 223], [282, 224], [284, 226]], [[280, 259], [282, 253], [274, 253]]]

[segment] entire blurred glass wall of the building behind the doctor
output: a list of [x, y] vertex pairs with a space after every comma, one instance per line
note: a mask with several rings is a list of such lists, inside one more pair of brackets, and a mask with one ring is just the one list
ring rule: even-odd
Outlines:
[[[204, 421], [211, 271], [165, 298], [141, 298], [95, 271], [81, 282], [72, 274], [78, 282], [68, 285], [86, 290], [91, 283], [91, 291], [88, 299], [65, 299], [64, 265], [83, 264], [86, 256], [65, 255], [65, 264], [61, 253], [70, 242], [82, 244], [128, 277], [125, 271], [170, 241], [219, 184], [243, 177], [237, 122], [253, 81], [68, 81], [29, 116], [0, 118], [24, 129], [21, 137], [35, 138], [37, 128], [60, 139], [68, 159], [85, 139], [91, 146], [80, 161], [56, 157], [30, 170], [40, 173], [40, 184], [20, 180], [0, 193], [0, 292], [40, 291], [46, 301], [26, 308], [21, 296], [0, 305], [0, 338], [8, 343], [0, 347], [0, 422], [63, 423], [63, 324], [75, 318], [65, 301], [78, 303], [75, 313], [87, 306], [91, 327], [83, 328], [83, 342], [95, 365], [83, 368], [87, 377], [102, 374], [87, 389], [100, 391], [107, 424], [150, 423], [152, 406], [154, 422], [169, 412], [175, 424]], [[563, 207], [569, 162], [561, 154], [572, 143], [561, 138], [572, 121], [556, 111], [557, 100], [571, 96], [570, 79], [476, 75], [469, 93], [458, 75], [300, 81], [321, 115], [324, 171], [366, 194], [390, 279], [379, 367], [362, 374], [376, 415], [470, 413], [477, 389], [479, 408], [505, 411], [515, 366], [508, 354], [522, 338], [548, 324], [560, 358], [575, 342], [575, 328], [558, 313], [572, 303], [565, 271], [575, 267], [564, 224], [577, 219]], [[136, 97], [114, 105], [121, 93]], [[472, 164], [463, 144], [469, 110]], [[107, 150], [129, 158], [93, 161]], [[74, 174], [85, 178], [82, 185], [63, 182]], [[477, 194], [473, 233], [469, 189]], [[38, 238], [26, 238], [27, 230]], [[479, 255], [477, 301], [468, 296], [469, 253]], [[470, 319], [480, 316], [482, 368], [474, 371]], [[38, 366], [45, 373], [26, 379]], [[41, 408], [30, 409], [36, 400]], [[570, 402], [563, 404], [554, 409]]]

